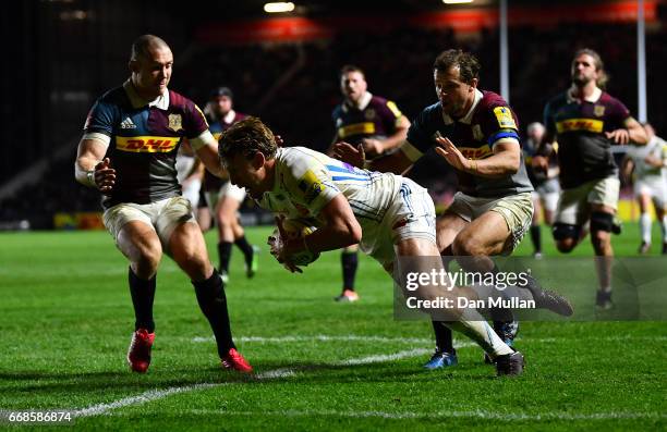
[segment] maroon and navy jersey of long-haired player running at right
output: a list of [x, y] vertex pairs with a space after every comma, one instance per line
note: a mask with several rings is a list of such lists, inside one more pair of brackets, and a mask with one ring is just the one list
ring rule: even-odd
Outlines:
[[544, 124], [548, 136], [558, 141], [563, 188], [618, 175], [613, 143], [605, 133], [626, 127], [629, 118], [626, 106], [604, 91], [594, 102], [579, 101], [566, 91], [547, 103]]

